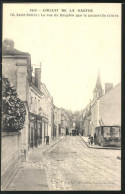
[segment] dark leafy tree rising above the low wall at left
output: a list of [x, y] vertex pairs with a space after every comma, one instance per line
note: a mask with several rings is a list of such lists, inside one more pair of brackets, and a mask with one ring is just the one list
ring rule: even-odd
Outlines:
[[24, 126], [26, 108], [24, 102], [17, 96], [16, 89], [2, 77], [2, 128], [3, 131], [15, 132]]

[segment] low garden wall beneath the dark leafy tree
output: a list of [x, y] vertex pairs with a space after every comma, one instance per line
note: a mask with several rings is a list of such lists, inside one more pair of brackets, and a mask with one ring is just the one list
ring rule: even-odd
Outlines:
[[21, 165], [21, 133], [2, 132], [1, 185], [5, 190]]

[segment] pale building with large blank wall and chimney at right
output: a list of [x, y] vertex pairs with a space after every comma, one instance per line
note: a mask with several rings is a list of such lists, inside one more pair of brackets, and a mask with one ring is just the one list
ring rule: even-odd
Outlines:
[[[98, 90], [99, 91], [99, 90]], [[102, 92], [102, 88], [100, 87]], [[100, 93], [101, 93], [100, 92]], [[121, 83], [113, 88], [112, 83], [105, 84], [105, 94], [95, 96], [91, 102], [91, 136], [94, 137], [98, 126], [121, 126]]]

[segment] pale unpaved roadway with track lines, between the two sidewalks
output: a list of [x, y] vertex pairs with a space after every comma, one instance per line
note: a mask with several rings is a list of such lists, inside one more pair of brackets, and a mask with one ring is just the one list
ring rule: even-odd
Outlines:
[[69, 136], [44, 153], [53, 190], [120, 190], [120, 150], [91, 149]]

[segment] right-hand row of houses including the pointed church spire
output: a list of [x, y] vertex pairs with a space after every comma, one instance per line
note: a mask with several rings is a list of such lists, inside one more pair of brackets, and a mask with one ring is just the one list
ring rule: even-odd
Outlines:
[[82, 111], [81, 128], [84, 136], [94, 138], [98, 126], [121, 126], [121, 83], [113, 87], [105, 83], [102, 89], [100, 73], [93, 90], [93, 100]]

